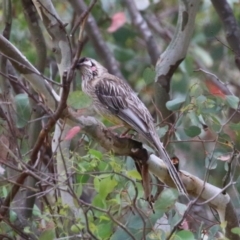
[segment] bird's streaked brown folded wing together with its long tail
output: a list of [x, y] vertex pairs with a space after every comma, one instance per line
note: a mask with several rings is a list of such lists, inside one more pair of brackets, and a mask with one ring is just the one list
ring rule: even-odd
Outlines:
[[178, 190], [186, 194], [178, 172], [154, 129], [152, 117], [133, 90], [121, 79], [103, 78], [95, 85], [99, 101], [137, 132], [141, 133], [158, 151], [166, 163]]

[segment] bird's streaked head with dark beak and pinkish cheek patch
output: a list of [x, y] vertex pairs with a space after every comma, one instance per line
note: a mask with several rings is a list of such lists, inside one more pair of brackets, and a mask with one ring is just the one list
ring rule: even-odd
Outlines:
[[79, 59], [77, 68], [80, 70], [83, 80], [91, 80], [94, 77], [101, 76], [102, 73], [107, 72], [107, 69], [104, 68], [100, 63], [87, 57]]

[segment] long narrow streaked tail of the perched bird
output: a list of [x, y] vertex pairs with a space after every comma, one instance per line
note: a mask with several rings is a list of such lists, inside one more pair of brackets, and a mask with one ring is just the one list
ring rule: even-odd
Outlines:
[[[155, 134], [153, 134], [155, 135]], [[163, 144], [161, 143], [160, 139], [158, 138], [158, 136], [153, 136], [152, 137], [152, 143], [154, 144], [154, 147], [156, 148], [156, 150], [158, 151], [160, 157], [163, 159], [163, 161], [165, 162], [165, 164], [167, 165], [169, 174], [173, 180], [173, 182], [175, 183], [178, 191], [184, 195], [188, 195], [186, 188], [182, 182], [182, 179], [180, 178], [178, 171], [176, 169], [176, 167], [173, 165], [167, 151], [165, 150]]]

